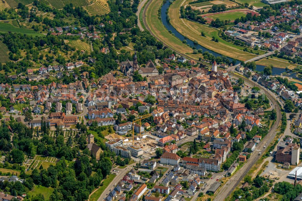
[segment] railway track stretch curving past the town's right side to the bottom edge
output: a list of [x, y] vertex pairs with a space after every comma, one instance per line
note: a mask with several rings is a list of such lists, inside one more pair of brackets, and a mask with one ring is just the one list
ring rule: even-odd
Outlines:
[[[238, 75], [232, 74], [232, 76], [238, 78]], [[242, 78], [244, 79], [245, 83], [249, 83], [251, 85], [258, 85], [258, 83], [255, 84], [253, 81], [251, 81], [245, 77], [242, 77]], [[255, 162], [259, 160], [259, 158], [265, 151], [265, 148], [263, 148], [263, 147], [265, 145], [268, 145], [275, 138], [276, 129], [278, 128], [278, 123], [281, 121], [281, 111], [279, 109], [280, 107], [271, 91], [267, 91], [267, 89], [265, 89], [261, 85], [258, 85], [258, 87], [260, 89], [262, 89], [262, 91], [264, 91], [265, 95], [268, 97], [268, 99], [272, 102], [272, 104], [276, 108], [276, 112], [277, 112], [276, 122], [271, 127], [271, 129], [269, 130], [269, 132], [265, 136], [265, 138], [262, 139], [262, 141], [259, 143], [259, 145], [255, 149], [255, 151], [251, 154], [251, 156], [250, 156], [249, 160], [247, 160], [246, 164], [242, 168], [240, 168], [239, 171], [237, 171], [236, 174], [234, 174], [231, 177], [231, 179], [226, 182], [225, 185], [223, 185], [221, 187], [220, 191], [217, 193], [214, 200], [224, 200], [224, 199], [226, 199], [227, 196], [230, 195], [230, 193], [233, 192], [233, 190], [236, 188], [236, 186], [239, 184], [239, 182], [243, 180], [243, 178], [248, 173], [248, 171], [252, 168], [252, 166], [255, 164]], [[259, 152], [261, 152], [262, 154], [258, 155]]]

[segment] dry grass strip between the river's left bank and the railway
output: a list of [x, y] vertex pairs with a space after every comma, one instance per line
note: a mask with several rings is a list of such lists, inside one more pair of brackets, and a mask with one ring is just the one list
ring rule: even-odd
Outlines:
[[[169, 33], [164, 27], [161, 20], [158, 18], [158, 9], [161, 7], [162, 1], [153, 0], [146, 10], [146, 24], [150, 27], [154, 35], [156, 35], [160, 41], [167, 43], [167, 45], [173, 49], [178, 49], [184, 54], [193, 53], [193, 49], [182, 43], [177, 37]], [[201, 54], [192, 55], [193, 58], [198, 59], [202, 57]]]

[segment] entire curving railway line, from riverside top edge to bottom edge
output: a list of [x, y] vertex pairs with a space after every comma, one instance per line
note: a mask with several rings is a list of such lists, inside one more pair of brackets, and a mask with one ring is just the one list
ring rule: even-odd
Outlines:
[[[145, 24], [146, 29], [159, 41], [161, 41], [163, 43], [164, 46], [169, 47], [170, 49], [172, 49], [173, 51], [175, 51], [178, 54], [182, 54], [180, 53], [177, 49], [174, 49], [172, 46], [170, 46], [168, 43], [166, 43], [165, 41], [162, 41], [159, 37], [157, 37], [152, 30], [150, 29], [150, 27], [148, 26], [148, 23], [146, 22], [146, 10], [148, 9], [150, 3], [152, 2], [152, 0], [150, 0], [144, 10], [143, 10], [143, 23]], [[186, 57], [194, 60], [195, 62], [201, 63], [200, 61], [186, 55]], [[239, 78], [238, 75], [234, 74], [233, 72], [229, 72], [233, 77]], [[271, 92], [267, 91], [264, 87], [262, 87], [261, 85], [259, 85], [258, 83], [255, 83], [254, 81], [249, 80], [248, 78], [244, 77], [244, 76], [240, 76], [240, 78], [243, 78], [243, 80], [245, 81], [245, 83], [248, 83], [249, 85], [257, 85], [263, 92], [264, 94], [268, 97], [268, 99], [271, 101], [271, 103], [274, 105], [274, 108], [276, 108], [276, 113], [277, 113], [277, 118], [276, 121], [274, 123], [274, 125], [271, 126], [271, 129], [269, 129], [268, 134], [265, 136], [265, 138], [259, 143], [259, 145], [257, 146], [257, 149], [251, 154], [249, 160], [247, 161], [247, 163], [245, 165], [243, 165], [242, 168], [240, 168], [236, 174], [234, 174], [230, 180], [228, 180], [219, 190], [219, 192], [217, 192], [215, 199], [217, 201], [220, 200], [225, 200], [227, 196], [229, 196], [233, 190], [235, 190], [235, 188], [238, 186], [238, 184], [240, 183], [240, 181], [243, 180], [243, 178], [246, 176], [246, 174], [248, 173], [248, 171], [252, 168], [252, 166], [256, 163], [256, 161], [259, 160], [259, 158], [261, 157], [261, 155], [263, 154], [263, 151], [265, 151], [264, 145], [269, 144], [276, 135], [276, 129], [278, 128], [279, 122], [281, 121], [281, 110], [280, 107], [278, 105], [277, 100], [275, 99], [275, 97], [271, 94]], [[261, 152], [262, 154], [258, 155], [258, 152]]]

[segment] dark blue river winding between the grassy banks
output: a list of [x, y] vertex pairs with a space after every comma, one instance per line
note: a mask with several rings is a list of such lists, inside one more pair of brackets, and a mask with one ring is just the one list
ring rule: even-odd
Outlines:
[[[192, 40], [184, 37], [171, 24], [169, 24], [169, 22], [167, 21], [167, 14], [166, 14], [166, 11], [168, 10], [169, 6], [170, 6], [170, 1], [166, 0], [166, 2], [162, 5], [162, 8], [161, 8], [162, 24], [167, 28], [167, 30], [171, 30], [172, 33], [175, 35], [175, 37], [179, 38], [179, 40], [181, 40], [181, 41], [186, 40], [187, 44], [189, 44], [192, 47], [195, 47], [196, 49], [202, 49], [203, 52], [208, 51], [209, 53], [213, 54], [215, 57], [222, 56], [221, 54], [216, 53], [210, 49], [207, 49], [207, 48], [201, 46], [200, 44], [194, 44], [194, 42]], [[230, 62], [233, 60], [230, 57], [226, 57], [226, 58], [229, 59]], [[240, 61], [236, 60], [236, 64], [239, 64], [239, 63], [240, 63]], [[264, 65], [257, 65], [256, 70], [263, 71], [264, 67], [265, 67]], [[272, 69], [272, 75], [280, 75], [283, 72], [285, 72], [285, 69], [277, 68], [277, 67], [273, 67], [273, 69]]]

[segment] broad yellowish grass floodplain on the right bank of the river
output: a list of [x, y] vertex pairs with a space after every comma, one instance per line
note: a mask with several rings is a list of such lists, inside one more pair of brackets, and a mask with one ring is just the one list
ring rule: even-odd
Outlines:
[[[240, 61], [246, 61], [256, 56], [255, 54], [242, 51], [243, 47], [236, 46], [218, 37], [218, 30], [215, 28], [179, 18], [179, 8], [182, 2], [182, 0], [176, 0], [169, 8], [170, 23], [180, 34], [190, 40], [197, 40], [198, 44], [207, 49]], [[186, 2], [183, 3], [183, 5], [185, 4]], [[202, 37], [201, 31], [203, 31], [207, 37]], [[212, 36], [218, 38], [219, 43], [212, 41]]]

